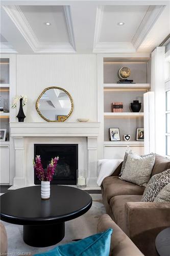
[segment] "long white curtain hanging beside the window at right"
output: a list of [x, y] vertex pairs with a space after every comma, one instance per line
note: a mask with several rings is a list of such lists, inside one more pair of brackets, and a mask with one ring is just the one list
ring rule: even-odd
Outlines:
[[[165, 155], [165, 47], [152, 52], [151, 91], [155, 94], [155, 152]], [[153, 146], [151, 145], [153, 148]]]

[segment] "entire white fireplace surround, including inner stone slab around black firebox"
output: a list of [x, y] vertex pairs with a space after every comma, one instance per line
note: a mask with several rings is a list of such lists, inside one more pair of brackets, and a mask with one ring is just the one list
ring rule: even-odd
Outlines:
[[87, 169], [87, 187], [97, 187], [98, 122], [11, 122], [15, 166], [10, 189], [34, 185], [34, 144], [79, 144], [79, 169]]

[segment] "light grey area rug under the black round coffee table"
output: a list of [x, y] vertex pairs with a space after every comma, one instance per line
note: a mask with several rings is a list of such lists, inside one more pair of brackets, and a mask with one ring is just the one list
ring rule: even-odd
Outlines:
[[60, 243], [54, 246], [43, 248], [29, 246], [23, 242], [21, 225], [14, 225], [2, 221], [7, 230], [9, 255], [19, 255], [21, 253], [25, 255], [33, 255], [34, 253], [51, 250], [60, 244], [72, 242], [74, 239], [81, 239], [95, 234], [98, 219], [101, 215], [105, 214], [106, 211], [99, 196], [95, 196], [94, 194], [91, 196], [93, 199], [91, 208], [86, 214], [79, 218], [65, 222], [65, 237]]

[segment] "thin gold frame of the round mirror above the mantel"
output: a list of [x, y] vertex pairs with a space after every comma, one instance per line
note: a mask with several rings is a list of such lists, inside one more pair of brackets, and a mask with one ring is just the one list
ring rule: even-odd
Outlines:
[[[69, 97], [69, 99], [70, 99], [70, 102], [71, 102], [71, 110], [70, 110], [70, 112], [68, 113], [67, 116], [60, 116], [60, 119], [59, 119], [59, 120], [50, 120], [50, 119], [47, 119], [46, 117], [44, 117], [44, 116], [41, 114], [41, 111], [40, 111], [39, 108], [38, 108], [40, 98], [42, 97], [42, 95], [43, 95], [47, 90], [50, 90], [50, 89], [59, 89], [59, 90], [65, 92], [65, 93], [68, 95], [68, 97]], [[37, 101], [36, 101], [36, 110], [37, 110], [38, 114], [39, 114], [44, 120], [46, 120], [47, 122], [64, 122], [64, 121], [71, 115], [71, 113], [72, 113], [72, 111], [73, 111], [73, 106], [74, 106], [74, 105], [73, 105], [73, 100], [72, 100], [70, 94], [69, 94], [66, 90], [64, 90], [63, 88], [56, 87], [56, 86], [52, 86], [52, 87], [47, 87], [47, 88], [45, 88], [45, 89], [42, 91], [42, 93], [39, 95], [39, 97], [38, 97], [38, 99], [37, 99]]]

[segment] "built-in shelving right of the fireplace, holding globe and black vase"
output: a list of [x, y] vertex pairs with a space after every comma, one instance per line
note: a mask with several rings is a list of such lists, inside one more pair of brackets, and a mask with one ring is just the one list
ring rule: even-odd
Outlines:
[[[123, 158], [127, 147], [142, 155], [144, 141], [136, 140], [136, 131], [137, 128], [144, 128], [143, 95], [151, 87], [150, 55], [103, 54], [99, 60], [100, 86], [103, 83], [103, 119], [100, 118], [103, 123], [104, 158]], [[128, 79], [133, 79], [134, 83], [118, 83], [118, 71], [122, 67], [130, 68]], [[131, 110], [133, 100], [141, 102], [141, 110], [137, 113]], [[123, 102], [123, 110], [113, 112], [113, 102]], [[110, 141], [109, 128], [114, 127], [119, 128], [120, 141]], [[131, 136], [130, 141], [124, 141], [127, 134]]]

